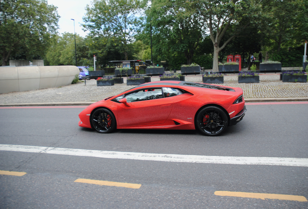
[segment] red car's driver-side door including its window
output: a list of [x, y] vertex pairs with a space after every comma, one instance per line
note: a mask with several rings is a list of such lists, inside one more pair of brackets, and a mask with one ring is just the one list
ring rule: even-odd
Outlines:
[[120, 104], [117, 111], [120, 126], [162, 124], [173, 107], [161, 88], [139, 90], [125, 95], [125, 99], [127, 103]]

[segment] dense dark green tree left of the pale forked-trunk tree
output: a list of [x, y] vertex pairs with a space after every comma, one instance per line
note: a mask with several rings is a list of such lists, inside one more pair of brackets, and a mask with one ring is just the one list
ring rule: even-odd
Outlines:
[[[148, 22], [154, 26], [159, 47], [167, 52], [183, 53], [191, 64], [194, 53], [202, 41], [204, 24], [197, 12], [198, 0], [153, 0], [147, 11]], [[157, 45], [155, 45], [157, 47]]]

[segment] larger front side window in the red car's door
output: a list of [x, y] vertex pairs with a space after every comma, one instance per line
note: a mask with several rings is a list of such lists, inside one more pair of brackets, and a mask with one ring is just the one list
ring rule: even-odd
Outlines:
[[161, 89], [139, 90], [125, 96], [127, 102], [138, 102], [163, 98]]

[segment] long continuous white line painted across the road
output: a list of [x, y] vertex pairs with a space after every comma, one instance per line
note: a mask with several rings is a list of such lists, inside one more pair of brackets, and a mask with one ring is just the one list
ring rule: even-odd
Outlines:
[[243, 165], [283, 165], [308, 167], [308, 158], [280, 158], [280, 157], [232, 157], [232, 156], [203, 156], [180, 154], [155, 154], [121, 151], [101, 151], [91, 149], [67, 149], [23, 145], [0, 145], [2, 151], [20, 151], [46, 154], [61, 154], [84, 157], [98, 157], [127, 160], [146, 160], [179, 163], [204, 164], [243, 164]]

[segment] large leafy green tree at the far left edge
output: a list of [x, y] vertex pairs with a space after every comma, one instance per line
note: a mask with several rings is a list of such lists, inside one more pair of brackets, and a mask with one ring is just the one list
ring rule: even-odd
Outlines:
[[58, 29], [57, 7], [46, 0], [0, 1], [0, 53], [2, 66], [23, 55], [43, 57], [50, 38]]

